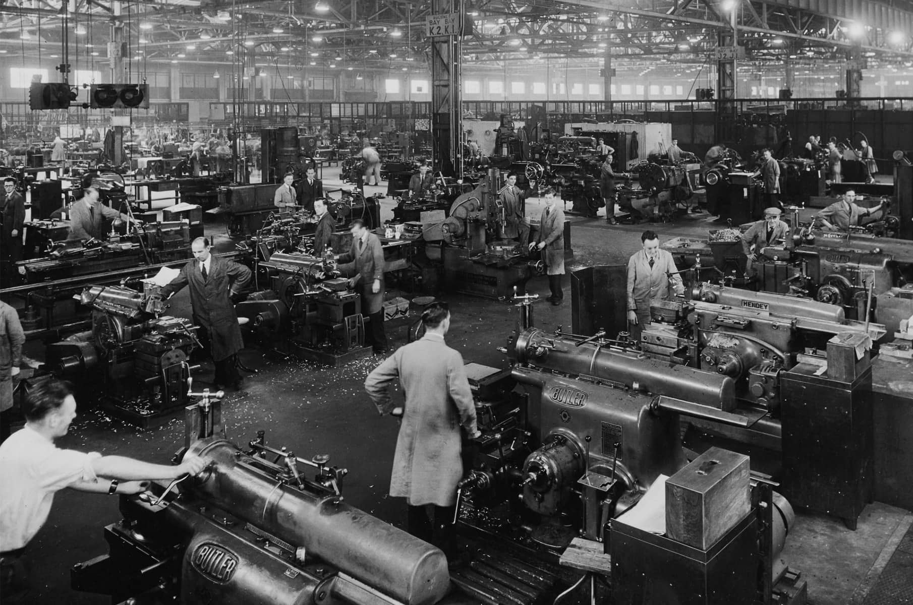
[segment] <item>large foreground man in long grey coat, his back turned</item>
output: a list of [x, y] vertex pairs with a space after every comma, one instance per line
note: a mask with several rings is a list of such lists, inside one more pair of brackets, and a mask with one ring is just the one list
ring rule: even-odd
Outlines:
[[[396, 440], [390, 495], [404, 497], [409, 506], [409, 532], [456, 555], [453, 533], [456, 484], [463, 477], [460, 427], [479, 436], [476, 406], [463, 357], [444, 342], [450, 329], [446, 303], [432, 303], [422, 313], [425, 336], [396, 349], [364, 381], [381, 414], [402, 415]], [[388, 391], [399, 378], [405, 395], [394, 407]], [[427, 506], [435, 507], [432, 525]]]

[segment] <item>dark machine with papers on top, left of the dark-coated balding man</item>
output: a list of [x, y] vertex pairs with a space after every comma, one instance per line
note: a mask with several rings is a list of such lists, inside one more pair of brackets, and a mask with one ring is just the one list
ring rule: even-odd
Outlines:
[[163, 316], [158, 287], [92, 286], [79, 296], [92, 309], [89, 332], [51, 343], [45, 363], [86, 397], [142, 427], [167, 422], [190, 403], [190, 353], [199, 346], [189, 319]]

